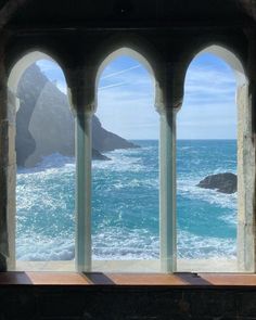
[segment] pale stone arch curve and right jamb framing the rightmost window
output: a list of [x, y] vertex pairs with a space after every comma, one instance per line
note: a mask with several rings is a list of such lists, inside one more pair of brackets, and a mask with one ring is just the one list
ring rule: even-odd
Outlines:
[[194, 52], [187, 60], [185, 71], [196, 56], [212, 53], [225, 61], [234, 73], [238, 107], [238, 270], [255, 271], [255, 146], [245, 64], [235, 50], [222, 44], [204, 46]]

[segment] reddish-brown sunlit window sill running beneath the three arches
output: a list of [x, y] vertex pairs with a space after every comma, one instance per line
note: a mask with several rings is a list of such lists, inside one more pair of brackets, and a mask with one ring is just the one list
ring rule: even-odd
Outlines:
[[245, 273], [77, 273], [0, 272], [1, 285], [115, 285], [168, 287], [254, 287], [256, 274]]

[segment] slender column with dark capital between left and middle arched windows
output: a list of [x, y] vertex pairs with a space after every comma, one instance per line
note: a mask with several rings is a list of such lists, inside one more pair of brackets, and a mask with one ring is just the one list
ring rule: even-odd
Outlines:
[[[91, 271], [91, 118], [94, 78], [90, 68], [69, 71], [71, 101], [76, 119], [76, 269]], [[91, 77], [90, 77], [91, 75]]]

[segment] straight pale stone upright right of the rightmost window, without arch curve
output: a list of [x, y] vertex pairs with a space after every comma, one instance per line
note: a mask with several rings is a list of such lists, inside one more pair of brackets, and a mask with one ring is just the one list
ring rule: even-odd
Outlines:
[[[254, 94], [256, 90], [254, 90]], [[255, 272], [255, 139], [248, 88], [238, 88], [238, 269]]]

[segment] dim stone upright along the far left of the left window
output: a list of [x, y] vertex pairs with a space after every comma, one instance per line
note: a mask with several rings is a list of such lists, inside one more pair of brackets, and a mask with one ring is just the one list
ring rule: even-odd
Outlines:
[[15, 99], [8, 94], [0, 34], [0, 271], [15, 268]]

